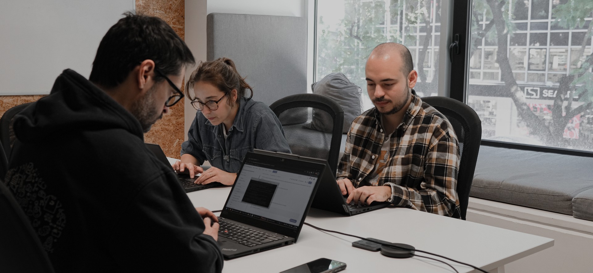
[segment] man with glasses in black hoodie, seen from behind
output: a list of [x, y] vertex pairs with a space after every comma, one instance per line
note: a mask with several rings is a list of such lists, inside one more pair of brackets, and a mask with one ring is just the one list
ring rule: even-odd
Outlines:
[[15, 117], [5, 183], [56, 272], [221, 272], [215, 215], [144, 145], [194, 63], [167, 23], [126, 14], [89, 80], [66, 69]]

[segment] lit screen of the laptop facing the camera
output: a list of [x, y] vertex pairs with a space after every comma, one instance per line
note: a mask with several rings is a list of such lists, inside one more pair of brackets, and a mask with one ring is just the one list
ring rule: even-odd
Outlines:
[[298, 228], [319, 172], [286, 171], [247, 162], [229, 196], [229, 211]]

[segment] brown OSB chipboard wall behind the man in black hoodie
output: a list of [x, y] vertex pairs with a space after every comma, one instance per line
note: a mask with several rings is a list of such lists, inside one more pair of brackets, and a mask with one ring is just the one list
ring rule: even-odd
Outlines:
[[[136, 12], [162, 18], [183, 39], [185, 36], [184, 5], [184, 0], [136, 0]], [[36, 101], [41, 97], [43, 95], [0, 96], [0, 115], [4, 115], [4, 112], [13, 106]], [[151, 131], [144, 135], [144, 139], [146, 142], [161, 145], [162, 150], [168, 157], [179, 158], [181, 143], [183, 142], [183, 129], [184, 113], [183, 102], [181, 102], [171, 107], [170, 112], [163, 115], [162, 119], [152, 126]]]

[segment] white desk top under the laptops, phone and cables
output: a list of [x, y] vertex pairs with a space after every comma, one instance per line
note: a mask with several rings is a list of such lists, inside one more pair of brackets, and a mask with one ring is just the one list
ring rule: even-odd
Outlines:
[[[224, 207], [230, 189], [212, 188], [187, 195], [196, 207], [217, 210]], [[406, 243], [498, 273], [504, 272], [505, 264], [554, 245], [549, 238], [407, 208], [383, 208], [352, 217], [311, 209], [305, 221], [362, 237]], [[356, 240], [303, 226], [296, 244], [225, 261], [223, 271], [280, 272], [314, 259], [329, 258], [345, 262], [347, 268], [343, 272], [453, 272], [447, 265], [425, 258], [394, 259], [352, 247], [351, 242]], [[447, 262], [459, 272], [479, 272]]]

